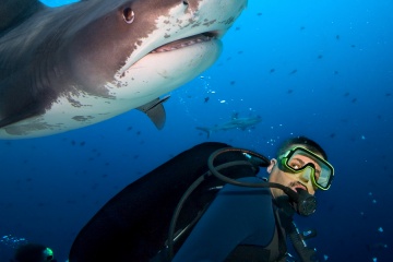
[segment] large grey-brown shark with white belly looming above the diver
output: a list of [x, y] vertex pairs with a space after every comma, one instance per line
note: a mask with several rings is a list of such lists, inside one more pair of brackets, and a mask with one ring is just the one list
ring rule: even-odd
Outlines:
[[217, 60], [246, 4], [1, 0], [0, 139], [50, 135], [134, 108], [162, 129], [162, 96]]

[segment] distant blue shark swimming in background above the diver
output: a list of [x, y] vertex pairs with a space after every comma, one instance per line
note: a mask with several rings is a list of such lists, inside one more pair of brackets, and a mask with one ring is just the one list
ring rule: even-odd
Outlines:
[[226, 131], [226, 130], [230, 130], [230, 129], [247, 130], [247, 129], [253, 128], [257, 123], [260, 123], [261, 121], [262, 121], [262, 118], [260, 116], [239, 118], [238, 115], [235, 114], [230, 121], [225, 122], [223, 124], [216, 124], [212, 128], [196, 127], [195, 129], [206, 132], [207, 138], [210, 138], [210, 135], [213, 132]]

